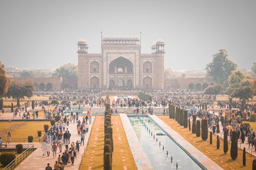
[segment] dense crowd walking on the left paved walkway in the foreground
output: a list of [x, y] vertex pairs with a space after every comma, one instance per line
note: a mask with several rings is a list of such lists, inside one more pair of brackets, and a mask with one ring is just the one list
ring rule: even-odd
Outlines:
[[[71, 142], [71, 133], [69, 131], [70, 123], [76, 124], [77, 134], [80, 136], [81, 140], [76, 140]], [[57, 160], [55, 161], [54, 168], [55, 170], [64, 169], [65, 165], [71, 163], [74, 165], [74, 160], [76, 155], [79, 154], [80, 145], [84, 145], [84, 139], [86, 134], [89, 132], [90, 124], [92, 123], [92, 116], [90, 112], [86, 116], [82, 117], [82, 120], [79, 120], [78, 114], [71, 114], [65, 117], [62, 117], [58, 123], [56, 123], [50, 130], [45, 132], [44, 142], [42, 142], [42, 156], [50, 156], [52, 152], [53, 157]], [[63, 133], [65, 132], [65, 133]], [[65, 148], [64, 152], [62, 149]], [[57, 150], [62, 155], [58, 155]], [[46, 169], [52, 168], [50, 164]]]

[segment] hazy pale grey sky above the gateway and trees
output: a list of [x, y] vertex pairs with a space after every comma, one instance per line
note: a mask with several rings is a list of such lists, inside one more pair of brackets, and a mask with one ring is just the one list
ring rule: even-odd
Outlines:
[[239, 68], [256, 61], [256, 1], [0, 0], [0, 60], [22, 68], [77, 64], [77, 40], [100, 53], [103, 36], [139, 36], [142, 53], [165, 42], [165, 67], [203, 69], [225, 48]]

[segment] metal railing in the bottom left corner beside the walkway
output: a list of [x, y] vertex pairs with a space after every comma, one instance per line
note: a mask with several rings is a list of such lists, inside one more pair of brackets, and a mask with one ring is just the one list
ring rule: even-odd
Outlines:
[[11, 161], [6, 167], [4, 167], [3, 170], [12, 170], [15, 167], [18, 166], [18, 164], [20, 162], [22, 162], [24, 159], [26, 159], [32, 152], [33, 152], [34, 148], [28, 148], [26, 149], [22, 154], [20, 154], [19, 156], [17, 156], [13, 161]]

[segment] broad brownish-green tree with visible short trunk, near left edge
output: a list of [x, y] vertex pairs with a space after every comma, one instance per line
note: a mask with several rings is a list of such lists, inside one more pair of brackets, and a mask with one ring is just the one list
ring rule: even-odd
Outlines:
[[8, 98], [13, 98], [17, 100], [17, 106], [19, 106], [19, 100], [25, 97], [31, 98], [33, 95], [33, 83], [32, 81], [16, 82], [13, 81], [9, 86], [6, 93]]

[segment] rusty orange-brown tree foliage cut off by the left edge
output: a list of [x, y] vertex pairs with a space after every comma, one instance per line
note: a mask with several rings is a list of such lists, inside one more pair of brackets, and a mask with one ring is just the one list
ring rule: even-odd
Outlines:
[[5, 65], [0, 61], [0, 99], [6, 94], [11, 81], [5, 74]]

